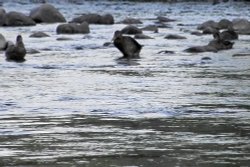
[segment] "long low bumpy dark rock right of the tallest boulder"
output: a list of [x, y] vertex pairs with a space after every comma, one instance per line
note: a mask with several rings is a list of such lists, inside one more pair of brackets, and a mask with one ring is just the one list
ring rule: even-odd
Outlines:
[[114, 24], [114, 17], [111, 14], [99, 15], [95, 13], [83, 14], [74, 18], [71, 23], [83, 23], [89, 24]]

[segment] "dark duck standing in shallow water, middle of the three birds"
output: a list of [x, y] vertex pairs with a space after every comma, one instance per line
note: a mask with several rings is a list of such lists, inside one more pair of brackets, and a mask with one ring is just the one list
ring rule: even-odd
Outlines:
[[134, 38], [130, 36], [123, 36], [121, 31], [115, 31], [113, 37], [114, 45], [119, 49], [123, 57], [122, 58], [139, 58], [142, 45], [139, 44]]

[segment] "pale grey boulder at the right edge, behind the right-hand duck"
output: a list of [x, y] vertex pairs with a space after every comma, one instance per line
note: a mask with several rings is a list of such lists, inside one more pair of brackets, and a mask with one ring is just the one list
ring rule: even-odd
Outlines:
[[247, 19], [234, 19], [233, 28], [239, 34], [250, 34], [250, 22]]

